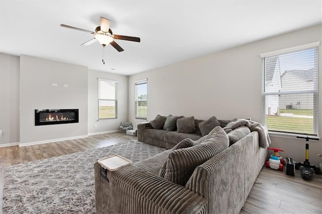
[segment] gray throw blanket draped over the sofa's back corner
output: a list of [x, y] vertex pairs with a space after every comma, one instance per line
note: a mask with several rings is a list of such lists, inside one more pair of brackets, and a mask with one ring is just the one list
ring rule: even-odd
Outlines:
[[231, 122], [227, 124], [227, 126], [223, 128], [223, 130], [226, 130], [226, 129], [234, 130], [235, 128], [240, 126], [247, 126], [248, 128], [250, 128], [252, 132], [254, 131], [258, 132], [260, 147], [267, 148], [271, 144], [271, 139], [268, 135], [268, 130], [264, 126], [262, 126], [262, 124], [257, 123], [255, 121], [239, 119], [236, 122]]

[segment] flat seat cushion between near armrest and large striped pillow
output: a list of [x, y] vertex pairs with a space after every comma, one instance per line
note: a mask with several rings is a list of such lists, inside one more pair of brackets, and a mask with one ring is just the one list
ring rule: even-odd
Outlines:
[[134, 165], [137, 167], [140, 167], [141, 169], [149, 171], [155, 175], [158, 175], [161, 167], [163, 166], [163, 164], [167, 160], [168, 155], [171, 151], [172, 151], [171, 149], [166, 150], [166, 151], [159, 153], [157, 155], [154, 155], [153, 157], [150, 157], [146, 160], [137, 162]]

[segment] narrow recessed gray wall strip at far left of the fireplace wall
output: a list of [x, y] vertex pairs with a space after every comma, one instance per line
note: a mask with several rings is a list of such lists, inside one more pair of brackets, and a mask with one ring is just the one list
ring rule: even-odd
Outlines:
[[0, 53], [0, 147], [19, 143], [19, 60]]

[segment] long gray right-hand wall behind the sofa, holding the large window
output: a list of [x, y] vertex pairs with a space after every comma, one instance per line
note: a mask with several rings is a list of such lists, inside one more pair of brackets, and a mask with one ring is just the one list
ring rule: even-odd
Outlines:
[[[148, 79], [148, 120], [157, 114], [195, 116], [206, 120], [251, 117], [261, 122], [261, 53], [322, 42], [322, 25], [279, 35], [199, 58], [129, 76], [128, 118], [134, 119], [134, 81]], [[321, 65], [321, 46], [319, 65]], [[192, 47], [193, 51], [193, 47]], [[319, 93], [322, 94], [322, 66]], [[322, 95], [319, 96], [319, 129], [322, 136]], [[271, 137], [273, 147], [284, 149], [283, 157], [304, 161], [305, 141], [295, 137]], [[310, 161], [317, 164], [322, 143], [310, 143]]]

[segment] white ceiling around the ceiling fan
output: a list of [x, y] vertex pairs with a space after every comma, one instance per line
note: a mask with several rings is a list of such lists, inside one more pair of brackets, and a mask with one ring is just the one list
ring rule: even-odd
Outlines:
[[[117, 52], [96, 42], [90, 31], [100, 17], [114, 34]], [[322, 1], [3, 1], [0, 52], [30, 55], [124, 75], [322, 23]], [[115, 69], [115, 70], [114, 70]]]

